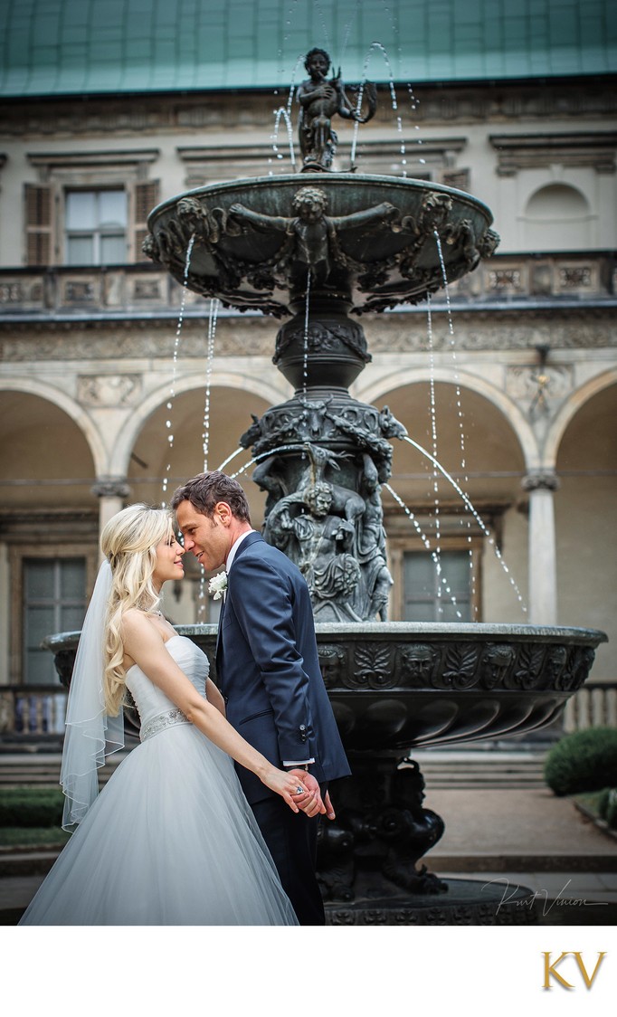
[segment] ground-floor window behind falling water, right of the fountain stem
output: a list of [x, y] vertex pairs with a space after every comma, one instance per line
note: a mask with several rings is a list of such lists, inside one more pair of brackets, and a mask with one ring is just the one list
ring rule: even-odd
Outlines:
[[472, 621], [472, 556], [442, 551], [404, 554], [405, 621]]

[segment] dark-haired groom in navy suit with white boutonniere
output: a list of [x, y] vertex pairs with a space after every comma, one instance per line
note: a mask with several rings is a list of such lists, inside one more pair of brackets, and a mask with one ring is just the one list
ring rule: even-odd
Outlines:
[[334, 819], [327, 782], [350, 774], [319, 670], [306, 582], [251, 527], [240, 484], [201, 473], [172, 498], [184, 547], [206, 570], [225, 564], [217, 670], [231, 724], [311, 792], [293, 813], [243, 767], [238, 776], [301, 924], [324, 923], [315, 877], [319, 815]]

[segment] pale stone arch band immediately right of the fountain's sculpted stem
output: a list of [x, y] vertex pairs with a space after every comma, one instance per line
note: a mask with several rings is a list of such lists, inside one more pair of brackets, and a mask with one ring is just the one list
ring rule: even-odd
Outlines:
[[[498, 388], [485, 378], [481, 378], [477, 374], [472, 374], [470, 371], [465, 370], [459, 370], [457, 378], [454, 378], [451, 369], [435, 367], [432, 376], [435, 382], [449, 385], [457, 383], [460, 388], [469, 388], [479, 396], [483, 396], [489, 403], [492, 403], [510, 424], [520, 445], [526, 470], [529, 472], [540, 467], [542, 462], [541, 452], [534, 430], [516, 403], [501, 388]], [[392, 392], [394, 388], [430, 381], [430, 379], [431, 371], [429, 367], [408, 367], [402, 370], [392, 370], [370, 381], [362, 391], [358, 388], [355, 395], [357, 399], [376, 404], [386, 393]], [[405, 421], [402, 421], [402, 423], [405, 423]]]

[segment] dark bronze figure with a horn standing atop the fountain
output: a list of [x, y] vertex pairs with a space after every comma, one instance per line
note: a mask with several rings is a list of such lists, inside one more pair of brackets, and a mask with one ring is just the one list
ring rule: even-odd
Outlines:
[[368, 111], [361, 116], [358, 106], [350, 101], [338, 73], [326, 80], [330, 58], [325, 50], [310, 50], [304, 61], [310, 77], [298, 88], [298, 102], [302, 107], [299, 122], [300, 151], [304, 159], [303, 173], [322, 173], [330, 170], [338, 138], [331, 120], [336, 114], [346, 120], [367, 123], [377, 109], [377, 93], [371, 81], [363, 85]]

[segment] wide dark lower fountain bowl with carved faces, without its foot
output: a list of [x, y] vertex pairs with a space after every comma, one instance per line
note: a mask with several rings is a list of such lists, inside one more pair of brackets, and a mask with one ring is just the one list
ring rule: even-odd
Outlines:
[[[215, 678], [217, 626], [176, 629], [206, 653]], [[398, 755], [553, 723], [607, 640], [595, 629], [473, 622], [330, 623], [316, 633], [346, 750]], [[78, 639], [60, 633], [45, 643], [65, 685]]]

